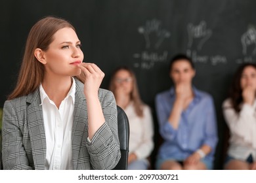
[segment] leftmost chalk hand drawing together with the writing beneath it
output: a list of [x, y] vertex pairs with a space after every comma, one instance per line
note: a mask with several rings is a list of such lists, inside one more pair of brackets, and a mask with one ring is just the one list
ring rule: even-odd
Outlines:
[[161, 21], [154, 18], [147, 20], [146, 24], [138, 28], [138, 32], [143, 35], [145, 48], [139, 53], [133, 54], [136, 59], [134, 67], [141, 69], [152, 69], [156, 63], [167, 60], [167, 50], [158, 50], [171, 33], [161, 28]]

